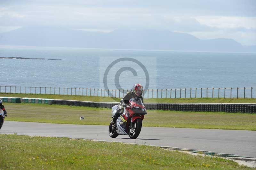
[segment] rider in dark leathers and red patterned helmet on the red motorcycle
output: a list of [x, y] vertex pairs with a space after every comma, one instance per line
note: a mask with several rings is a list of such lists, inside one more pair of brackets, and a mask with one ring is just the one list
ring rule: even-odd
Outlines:
[[124, 107], [127, 107], [127, 104], [129, 104], [129, 100], [131, 98], [140, 97], [142, 103], [144, 103], [143, 97], [141, 96], [143, 93], [143, 86], [141, 84], [135, 84], [132, 88], [132, 90], [121, 99], [120, 104], [118, 104], [118, 110], [111, 120], [111, 123], [115, 124], [117, 118], [121, 116], [124, 113]]

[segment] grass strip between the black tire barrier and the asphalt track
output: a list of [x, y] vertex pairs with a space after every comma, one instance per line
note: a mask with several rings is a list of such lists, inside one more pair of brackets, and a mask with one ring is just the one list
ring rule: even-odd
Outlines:
[[[111, 110], [48, 104], [4, 103], [5, 120], [109, 125]], [[84, 116], [84, 120], [79, 120]], [[256, 114], [226, 112], [148, 111], [142, 123], [150, 127], [256, 130]]]

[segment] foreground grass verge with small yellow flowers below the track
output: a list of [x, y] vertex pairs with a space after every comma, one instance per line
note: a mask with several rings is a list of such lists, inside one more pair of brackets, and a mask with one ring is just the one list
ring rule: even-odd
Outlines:
[[0, 139], [0, 169], [252, 169], [145, 145], [25, 135]]

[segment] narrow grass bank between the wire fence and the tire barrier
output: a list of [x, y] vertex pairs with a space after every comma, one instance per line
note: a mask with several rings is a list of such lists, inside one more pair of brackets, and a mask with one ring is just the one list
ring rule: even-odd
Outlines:
[[[120, 98], [96, 97], [96, 96], [74, 96], [74, 95], [45, 95], [45, 94], [19, 94], [19, 93], [0, 93], [0, 96], [6, 97], [33, 97], [33, 98], [51, 98], [64, 100], [81, 100], [93, 102], [116, 102]], [[166, 103], [256, 103], [256, 98], [152, 98], [144, 99], [144, 102], [166, 102]]]

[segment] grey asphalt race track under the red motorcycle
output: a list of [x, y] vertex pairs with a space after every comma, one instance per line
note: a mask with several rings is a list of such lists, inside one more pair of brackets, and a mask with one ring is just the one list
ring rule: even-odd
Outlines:
[[256, 158], [256, 131], [142, 127], [139, 137], [130, 139], [128, 135], [110, 138], [108, 126], [4, 121], [0, 134], [8, 133], [150, 144]]

